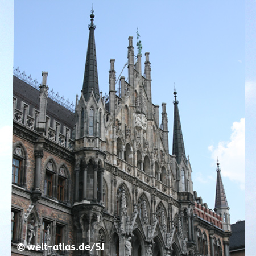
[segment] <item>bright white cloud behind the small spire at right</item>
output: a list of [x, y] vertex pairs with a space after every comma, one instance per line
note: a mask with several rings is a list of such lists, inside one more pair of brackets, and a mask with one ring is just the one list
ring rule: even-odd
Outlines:
[[245, 118], [233, 122], [232, 134], [227, 142], [219, 142], [214, 148], [209, 146], [212, 159], [220, 161], [221, 175], [240, 184], [245, 189]]

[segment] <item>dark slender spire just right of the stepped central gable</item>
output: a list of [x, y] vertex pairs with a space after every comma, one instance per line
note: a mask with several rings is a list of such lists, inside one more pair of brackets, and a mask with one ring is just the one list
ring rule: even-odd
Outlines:
[[176, 96], [177, 92], [174, 88], [174, 137], [172, 141], [172, 154], [176, 155], [177, 162], [180, 163], [182, 156], [186, 159], [185, 147], [183, 142], [181, 123], [180, 123], [180, 114]]

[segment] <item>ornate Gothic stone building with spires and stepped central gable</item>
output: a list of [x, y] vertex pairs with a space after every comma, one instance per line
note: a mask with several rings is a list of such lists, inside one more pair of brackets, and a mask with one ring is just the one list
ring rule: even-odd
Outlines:
[[[120, 77], [117, 95], [110, 59], [109, 96], [102, 96], [93, 13], [90, 18], [74, 111], [51, 94], [47, 72], [38, 86], [15, 70], [11, 254], [228, 256], [231, 229], [220, 168], [213, 212], [193, 191], [177, 92], [170, 154], [166, 103], [161, 110], [152, 103], [149, 52], [142, 75], [142, 55], [134, 58], [130, 36], [128, 80]], [[26, 248], [19, 251], [18, 243]], [[98, 247], [28, 251], [42, 243]]]

